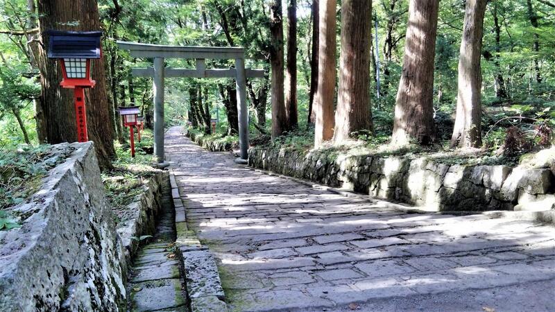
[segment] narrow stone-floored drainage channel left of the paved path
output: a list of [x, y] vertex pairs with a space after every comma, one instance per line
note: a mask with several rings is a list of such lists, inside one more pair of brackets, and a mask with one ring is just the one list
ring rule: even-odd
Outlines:
[[162, 189], [162, 211], [152, 241], [139, 251], [130, 270], [129, 311], [188, 312], [176, 254], [175, 209], [169, 180]]

